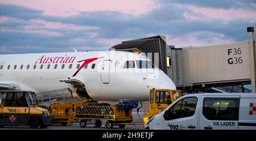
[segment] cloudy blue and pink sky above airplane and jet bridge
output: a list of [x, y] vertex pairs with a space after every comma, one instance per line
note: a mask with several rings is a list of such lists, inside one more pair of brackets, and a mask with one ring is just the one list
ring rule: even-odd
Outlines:
[[256, 0], [0, 0], [0, 54], [109, 50], [166, 36], [176, 48], [247, 41]]

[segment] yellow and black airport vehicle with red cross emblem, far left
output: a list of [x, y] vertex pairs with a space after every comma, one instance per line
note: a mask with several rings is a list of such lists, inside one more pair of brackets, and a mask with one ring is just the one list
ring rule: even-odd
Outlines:
[[46, 128], [51, 125], [51, 115], [36, 105], [34, 92], [0, 91], [0, 127], [26, 125]]

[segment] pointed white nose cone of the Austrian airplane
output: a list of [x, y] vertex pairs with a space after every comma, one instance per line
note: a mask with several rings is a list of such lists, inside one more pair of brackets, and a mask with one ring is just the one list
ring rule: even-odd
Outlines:
[[162, 70], [154, 76], [154, 78], [148, 78], [146, 80], [150, 88], [155, 89], [176, 89], [176, 86], [171, 78], [166, 75]]

